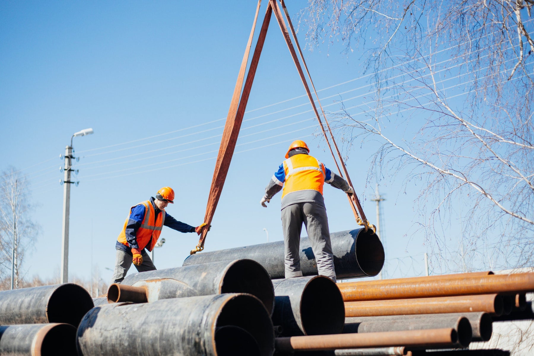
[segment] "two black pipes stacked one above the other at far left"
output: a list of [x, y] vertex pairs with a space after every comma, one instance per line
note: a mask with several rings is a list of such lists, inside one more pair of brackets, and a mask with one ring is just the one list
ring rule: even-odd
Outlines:
[[0, 355], [76, 356], [76, 327], [92, 307], [72, 283], [0, 291]]

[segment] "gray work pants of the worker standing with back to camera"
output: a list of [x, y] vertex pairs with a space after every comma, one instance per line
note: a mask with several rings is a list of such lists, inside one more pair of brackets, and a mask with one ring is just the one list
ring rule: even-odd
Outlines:
[[302, 275], [299, 256], [302, 223], [308, 232], [319, 274], [325, 275], [335, 282], [334, 256], [330, 243], [326, 209], [322, 205], [312, 202], [291, 204], [282, 209], [286, 278]]

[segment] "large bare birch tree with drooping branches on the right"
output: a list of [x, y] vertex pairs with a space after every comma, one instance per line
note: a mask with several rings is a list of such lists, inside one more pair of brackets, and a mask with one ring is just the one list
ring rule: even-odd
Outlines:
[[365, 60], [372, 90], [356, 107], [340, 98], [334, 130], [373, 149], [369, 180], [417, 184], [435, 273], [534, 262], [533, 4], [309, 0], [300, 13], [310, 49], [342, 42]]

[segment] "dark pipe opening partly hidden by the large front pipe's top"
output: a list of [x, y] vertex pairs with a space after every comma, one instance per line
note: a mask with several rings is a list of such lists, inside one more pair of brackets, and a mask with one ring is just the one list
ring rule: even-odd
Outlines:
[[252, 259], [235, 261], [226, 271], [221, 293], [247, 293], [260, 299], [267, 311], [274, 309], [274, 289], [265, 268]]

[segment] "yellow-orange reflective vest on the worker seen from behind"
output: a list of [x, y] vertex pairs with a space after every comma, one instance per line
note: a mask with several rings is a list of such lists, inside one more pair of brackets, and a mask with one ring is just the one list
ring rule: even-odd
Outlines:
[[297, 154], [284, 161], [286, 180], [282, 199], [289, 193], [311, 189], [323, 194], [325, 165], [315, 157]]

